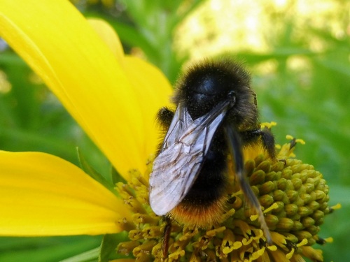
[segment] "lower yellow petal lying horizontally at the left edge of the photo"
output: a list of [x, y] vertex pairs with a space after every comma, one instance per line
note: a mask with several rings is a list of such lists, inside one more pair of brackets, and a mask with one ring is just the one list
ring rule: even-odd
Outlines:
[[99, 235], [130, 217], [83, 170], [39, 152], [0, 151], [0, 235]]

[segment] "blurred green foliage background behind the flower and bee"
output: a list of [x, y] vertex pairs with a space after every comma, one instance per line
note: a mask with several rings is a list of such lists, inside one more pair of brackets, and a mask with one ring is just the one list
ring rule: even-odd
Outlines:
[[[73, 1], [118, 32], [125, 52], [158, 66], [174, 83], [183, 66], [230, 55], [252, 74], [262, 122], [302, 138], [297, 158], [330, 185], [319, 235], [325, 261], [350, 261], [350, 1]], [[41, 80], [0, 40], [0, 149], [41, 151], [78, 164], [76, 147], [100, 173], [109, 163]], [[102, 237], [0, 238], [0, 261], [60, 261], [98, 247]], [[316, 246], [315, 246], [316, 247]], [[78, 260], [90, 261], [97, 254]]]

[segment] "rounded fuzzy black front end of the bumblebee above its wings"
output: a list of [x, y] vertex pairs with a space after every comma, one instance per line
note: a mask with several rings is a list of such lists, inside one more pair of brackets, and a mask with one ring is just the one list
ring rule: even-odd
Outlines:
[[234, 96], [232, 114], [244, 112], [248, 105], [255, 108], [256, 115], [255, 94], [249, 84], [249, 75], [239, 64], [205, 60], [191, 67], [177, 83], [174, 102], [182, 103], [190, 116], [197, 119]]

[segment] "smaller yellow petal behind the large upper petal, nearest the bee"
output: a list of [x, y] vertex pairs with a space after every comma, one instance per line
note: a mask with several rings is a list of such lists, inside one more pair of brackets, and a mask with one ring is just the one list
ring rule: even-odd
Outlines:
[[137, 57], [124, 57], [123, 46], [113, 28], [103, 20], [88, 20], [97, 34], [109, 46], [116, 59], [123, 64], [138, 97], [141, 107], [143, 122], [134, 123], [143, 126], [144, 145], [141, 145], [141, 152], [144, 152], [141, 159], [146, 159], [150, 154], [155, 153], [159, 143], [159, 129], [155, 124], [155, 115], [163, 106], [169, 106], [172, 88], [163, 73]]

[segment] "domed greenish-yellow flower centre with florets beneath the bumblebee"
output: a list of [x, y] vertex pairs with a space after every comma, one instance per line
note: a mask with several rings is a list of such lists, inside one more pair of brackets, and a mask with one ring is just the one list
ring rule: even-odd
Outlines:
[[[244, 152], [251, 157], [246, 159], [245, 170], [260, 201], [272, 244], [267, 243], [233, 172], [223, 196], [225, 203], [210, 211], [216, 213], [209, 214], [215, 221], [203, 225], [206, 220], [201, 217], [208, 210], [195, 214], [175, 210], [167, 217], [158, 217], [148, 203], [145, 177], [151, 172], [150, 161], [146, 174], [132, 170], [129, 184], [117, 184], [125, 208], [134, 213], [132, 221], [119, 221], [129, 241], [121, 242], [118, 252], [139, 261], [323, 261], [316, 246], [332, 242], [332, 238], [321, 238], [320, 226], [325, 215], [340, 207], [328, 205], [329, 189], [323, 175], [314, 166], [295, 159], [293, 151], [304, 141], [288, 139], [288, 143], [276, 147], [276, 161], [253, 147], [246, 149], [252, 152]], [[195, 216], [199, 225], [186, 224], [188, 216]]]

